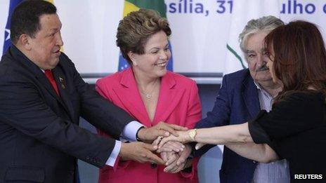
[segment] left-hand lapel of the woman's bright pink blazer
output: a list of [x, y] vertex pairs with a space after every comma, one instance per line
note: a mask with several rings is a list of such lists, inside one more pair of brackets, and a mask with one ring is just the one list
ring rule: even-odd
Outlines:
[[150, 118], [148, 117], [143, 100], [138, 91], [135, 77], [133, 76], [132, 69], [127, 69], [122, 73], [120, 80], [120, 86], [118, 88], [112, 88], [115, 91], [117, 97], [124, 105], [125, 109], [129, 111], [133, 117], [143, 123], [145, 126], [152, 126]]

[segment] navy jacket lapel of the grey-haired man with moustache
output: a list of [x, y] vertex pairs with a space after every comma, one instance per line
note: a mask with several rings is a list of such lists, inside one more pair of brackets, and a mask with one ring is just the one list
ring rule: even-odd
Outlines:
[[244, 89], [242, 90], [244, 103], [247, 106], [250, 116], [254, 118], [261, 109], [257, 86], [254, 84], [254, 80], [250, 76], [247, 76], [247, 79], [243, 81], [242, 85], [244, 86]]

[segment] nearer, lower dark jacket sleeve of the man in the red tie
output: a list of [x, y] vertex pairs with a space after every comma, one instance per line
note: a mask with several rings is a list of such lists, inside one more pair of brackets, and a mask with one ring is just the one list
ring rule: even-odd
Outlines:
[[60, 118], [41, 97], [38, 86], [24, 74], [1, 75], [0, 88], [1, 123], [82, 161], [105, 165], [115, 140]]

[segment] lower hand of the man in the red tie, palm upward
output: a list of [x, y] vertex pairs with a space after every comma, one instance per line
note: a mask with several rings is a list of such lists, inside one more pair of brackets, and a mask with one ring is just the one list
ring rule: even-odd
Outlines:
[[152, 151], [156, 151], [157, 147], [152, 144], [145, 144], [143, 142], [122, 143], [119, 156], [122, 160], [133, 160], [140, 163], [150, 162], [163, 165], [165, 162], [159, 158]]

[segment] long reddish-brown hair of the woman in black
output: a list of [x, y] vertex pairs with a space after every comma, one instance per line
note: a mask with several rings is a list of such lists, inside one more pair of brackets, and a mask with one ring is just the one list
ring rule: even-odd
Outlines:
[[326, 95], [326, 50], [316, 25], [302, 20], [289, 22], [273, 29], [265, 46], [273, 53], [273, 70], [283, 83], [275, 102], [289, 93], [311, 92], [308, 87]]

